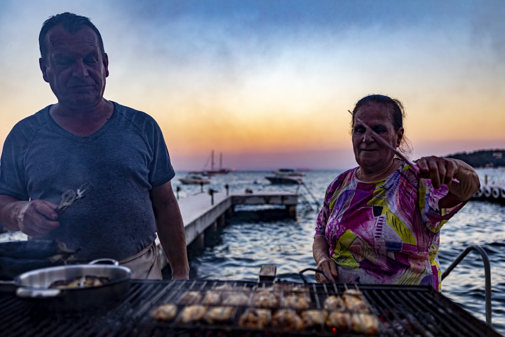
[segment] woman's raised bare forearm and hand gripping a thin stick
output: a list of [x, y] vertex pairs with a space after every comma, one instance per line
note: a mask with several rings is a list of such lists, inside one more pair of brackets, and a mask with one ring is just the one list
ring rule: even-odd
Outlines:
[[[422, 178], [431, 179], [433, 187], [446, 184], [449, 192], [440, 199], [441, 208], [450, 208], [472, 198], [480, 187], [479, 176], [475, 170], [462, 160], [442, 157], [423, 157], [416, 164]], [[453, 181], [456, 178], [459, 182]]]

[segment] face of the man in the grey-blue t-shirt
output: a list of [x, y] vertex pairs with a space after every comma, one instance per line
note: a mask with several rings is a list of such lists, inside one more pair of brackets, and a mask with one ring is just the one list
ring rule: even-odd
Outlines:
[[98, 37], [85, 26], [71, 34], [61, 25], [45, 35], [47, 55], [39, 60], [43, 78], [58, 103], [68, 109], [92, 108], [102, 101], [109, 60]]

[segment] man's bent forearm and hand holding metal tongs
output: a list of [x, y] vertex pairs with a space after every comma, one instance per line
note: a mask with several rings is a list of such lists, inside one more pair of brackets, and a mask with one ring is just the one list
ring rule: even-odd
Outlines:
[[57, 228], [56, 205], [44, 200], [19, 201], [0, 195], [0, 223], [8, 230], [20, 230], [33, 237], [44, 236]]

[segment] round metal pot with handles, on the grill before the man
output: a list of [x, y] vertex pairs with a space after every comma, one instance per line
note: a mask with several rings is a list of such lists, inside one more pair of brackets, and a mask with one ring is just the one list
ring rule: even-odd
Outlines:
[[[99, 264], [103, 262], [113, 264]], [[123, 300], [128, 295], [131, 274], [130, 268], [119, 266], [116, 260], [99, 259], [89, 264], [36, 269], [2, 283], [13, 284], [18, 297], [49, 310], [82, 310], [108, 307]], [[55, 281], [84, 276], [107, 277], [110, 281], [83, 288], [49, 288]]]

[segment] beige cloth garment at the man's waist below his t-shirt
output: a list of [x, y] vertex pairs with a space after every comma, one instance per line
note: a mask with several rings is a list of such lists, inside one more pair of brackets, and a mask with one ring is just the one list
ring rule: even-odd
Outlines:
[[158, 249], [155, 243], [126, 259], [118, 261], [119, 265], [131, 269], [131, 278], [135, 279], [163, 279]]

